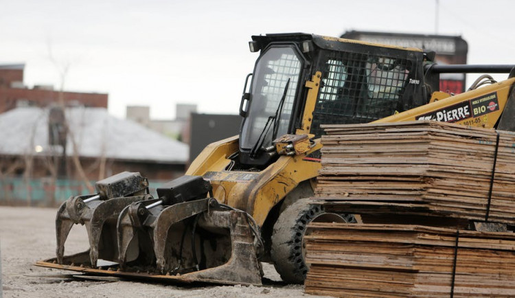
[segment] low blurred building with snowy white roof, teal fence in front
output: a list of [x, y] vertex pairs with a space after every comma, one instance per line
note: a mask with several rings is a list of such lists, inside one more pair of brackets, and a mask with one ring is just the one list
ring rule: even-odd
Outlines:
[[140, 172], [156, 187], [185, 172], [188, 146], [105, 108], [21, 107], [0, 114], [0, 203], [56, 205], [95, 181]]

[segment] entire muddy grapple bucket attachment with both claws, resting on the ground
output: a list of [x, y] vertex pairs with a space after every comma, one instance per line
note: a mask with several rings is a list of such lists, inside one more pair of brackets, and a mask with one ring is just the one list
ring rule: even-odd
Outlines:
[[[99, 194], [63, 203], [56, 220], [57, 258], [36, 264], [170, 282], [261, 284], [259, 231], [246, 212], [220, 205], [201, 176], [166, 183], [157, 189], [159, 198], [128, 186], [134, 183], [117, 187], [133, 174], [111, 177], [108, 189], [100, 181]], [[148, 185], [145, 179], [140, 183]], [[78, 223], [86, 226], [91, 249], [63, 256], [67, 235]]]

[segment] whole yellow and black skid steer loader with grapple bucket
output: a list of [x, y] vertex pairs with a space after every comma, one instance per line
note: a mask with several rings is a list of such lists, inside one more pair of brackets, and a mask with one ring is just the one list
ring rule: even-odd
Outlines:
[[[312, 34], [252, 36], [249, 46], [260, 56], [244, 84], [240, 134], [207, 146], [156, 196], [139, 173], [122, 173], [99, 181], [98, 194], [70, 198], [57, 214], [57, 257], [38, 265], [258, 285], [261, 261], [301, 283], [306, 225], [356, 222], [310, 204], [321, 124], [434, 119], [514, 130], [511, 74], [460, 95], [437, 92], [441, 72], [508, 73], [512, 65], [440, 66], [420, 49]], [[65, 256], [67, 233], [78, 223], [90, 250]]]

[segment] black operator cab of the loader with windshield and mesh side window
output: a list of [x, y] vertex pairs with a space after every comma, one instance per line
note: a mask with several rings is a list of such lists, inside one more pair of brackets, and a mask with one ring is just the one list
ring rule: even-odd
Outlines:
[[[275, 161], [273, 140], [295, 134], [305, 113], [320, 137], [321, 124], [372, 122], [428, 99], [420, 49], [301, 33], [252, 36], [249, 45], [260, 56], [240, 104], [242, 165], [263, 169]], [[317, 71], [317, 101], [305, 111], [306, 81]]]

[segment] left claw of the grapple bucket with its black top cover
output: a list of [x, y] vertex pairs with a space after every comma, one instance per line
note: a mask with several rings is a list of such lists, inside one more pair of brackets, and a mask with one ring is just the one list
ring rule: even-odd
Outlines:
[[131, 203], [152, 198], [148, 181], [139, 173], [122, 172], [98, 181], [98, 194], [75, 196], [60, 206], [56, 216], [57, 262], [62, 264], [65, 242], [71, 227], [84, 225], [89, 238], [89, 264], [96, 266], [99, 258], [117, 261], [116, 224], [119, 213]]

